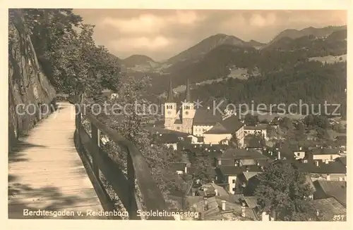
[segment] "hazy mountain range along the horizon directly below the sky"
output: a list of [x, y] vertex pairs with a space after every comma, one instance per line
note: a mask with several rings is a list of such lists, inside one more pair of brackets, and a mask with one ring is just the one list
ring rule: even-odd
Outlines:
[[[347, 26], [330, 26], [285, 30], [268, 44], [215, 34], [162, 63], [141, 55], [118, 59], [123, 72], [128, 72], [128, 76], [136, 79], [144, 75], [151, 77], [152, 87], [148, 89], [148, 94], [153, 99], [156, 96], [164, 97], [170, 79], [177, 94], [185, 90], [187, 79], [191, 83], [191, 90], [210, 91], [202, 86], [215, 86], [217, 82], [231, 79], [244, 82], [249, 77], [279, 75], [283, 71], [292, 71], [297, 65], [308, 68], [311, 64], [304, 65], [308, 61], [336, 63], [345, 62], [346, 58]], [[296, 79], [291, 80], [297, 84]], [[226, 91], [222, 87], [218, 87], [219, 93]], [[217, 92], [213, 91], [212, 95], [215, 94]]]

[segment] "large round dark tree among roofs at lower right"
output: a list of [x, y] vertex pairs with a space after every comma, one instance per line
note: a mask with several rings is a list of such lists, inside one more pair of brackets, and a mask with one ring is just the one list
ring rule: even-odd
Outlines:
[[276, 212], [283, 221], [304, 221], [316, 217], [310, 204], [313, 189], [306, 182], [306, 174], [292, 165], [278, 162], [265, 167], [258, 175], [255, 196], [261, 211]]

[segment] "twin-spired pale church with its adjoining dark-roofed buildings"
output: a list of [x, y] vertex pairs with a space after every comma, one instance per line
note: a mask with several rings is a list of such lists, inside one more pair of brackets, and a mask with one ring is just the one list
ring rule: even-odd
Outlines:
[[244, 144], [244, 124], [236, 115], [215, 113], [209, 107], [194, 107], [189, 79], [184, 101], [180, 103], [174, 100], [170, 81], [167, 101], [164, 102], [164, 129], [190, 134], [192, 143], [228, 144], [232, 136], [237, 136], [240, 145]]

